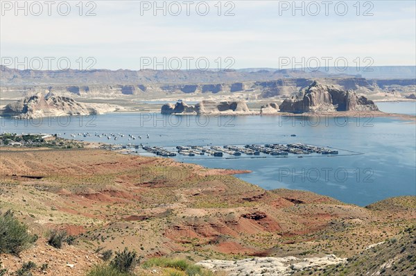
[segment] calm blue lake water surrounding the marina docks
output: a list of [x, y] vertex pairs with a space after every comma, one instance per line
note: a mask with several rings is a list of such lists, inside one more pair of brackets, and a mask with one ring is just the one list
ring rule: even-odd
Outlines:
[[[32, 121], [3, 118], [1, 132], [60, 133], [69, 139], [71, 134], [89, 132], [91, 137], [77, 135], [73, 139], [148, 146], [297, 142], [329, 146], [340, 149], [340, 155], [256, 159], [249, 155], [234, 159], [178, 155], [175, 159], [211, 168], [250, 170], [252, 173], [236, 176], [265, 189], [304, 189], [361, 206], [391, 196], [416, 195], [416, 126], [412, 121], [395, 118], [120, 113]], [[125, 136], [114, 141], [96, 137], [96, 132]], [[129, 140], [128, 134], [141, 135], [141, 139]], [[346, 150], [352, 151], [352, 155]]]

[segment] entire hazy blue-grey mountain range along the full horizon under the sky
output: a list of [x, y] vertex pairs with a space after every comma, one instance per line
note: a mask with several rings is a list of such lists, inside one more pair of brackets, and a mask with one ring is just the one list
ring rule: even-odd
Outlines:
[[416, 78], [416, 67], [390, 66], [371, 67], [373, 71], [357, 71], [348, 67], [337, 71], [329, 67], [328, 71], [295, 71], [291, 69], [250, 68], [226, 71], [200, 70], [127, 70], [107, 69], [67, 71], [40, 71], [10, 69], [0, 65], [1, 85], [80, 85], [80, 84], [200, 84], [200, 83], [233, 83], [243, 81], [268, 81], [286, 78]]

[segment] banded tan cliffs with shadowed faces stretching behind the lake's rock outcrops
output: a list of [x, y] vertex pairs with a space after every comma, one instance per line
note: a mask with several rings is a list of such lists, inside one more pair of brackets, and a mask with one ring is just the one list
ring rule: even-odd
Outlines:
[[[276, 75], [277, 76], [277, 75]], [[42, 78], [42, 76], [41, 76]], [[215, 78], [214, 78], [215, 79]], [[198, 83], [198, 84], [165, 84], [165, 83], [130, 83], [105, 84], [85, 83], [83, 85], [55, 85], [51, 80], [49, 85], [0, 85], [1, 98], [23, 98], [28, 95], [44, 92], [45, 90], [62, 96], [82, 98], [111, 99], [123, 97], [146, 99], [148, 96], [164, 98], [168, 94], [245, 94], [251, 98], [290, 98], [300, 90], [309, 87], [314, 80], [322, 85], [334, 85], [338, 89], [352, 89], [359, 94], [374, 96], [377, 93], [387, 93], [397, 98], [412, 94], [416, 89], [416, 80], [367, 80], [365, 78], [279, 78], [264, 81], [240, 81], [230, 83]]]

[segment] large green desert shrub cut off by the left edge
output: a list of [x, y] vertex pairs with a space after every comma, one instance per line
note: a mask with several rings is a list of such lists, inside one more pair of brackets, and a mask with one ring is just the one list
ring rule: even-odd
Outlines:
[[20, 223], [9, 210], [0, 214], [0, 253], [19, 255], [37, 240], [28, 233], [28, 227]]

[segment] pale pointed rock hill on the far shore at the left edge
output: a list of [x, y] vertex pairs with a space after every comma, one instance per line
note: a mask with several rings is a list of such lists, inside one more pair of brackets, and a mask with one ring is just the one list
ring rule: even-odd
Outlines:
[[35, 119], [49, 116], [89, 115], [96, 113], [96, 110], [74, 101], [73, 98], [47, 92], [37, 93], [15, 103], [9, 103], [0, 113], [5, 117]]

